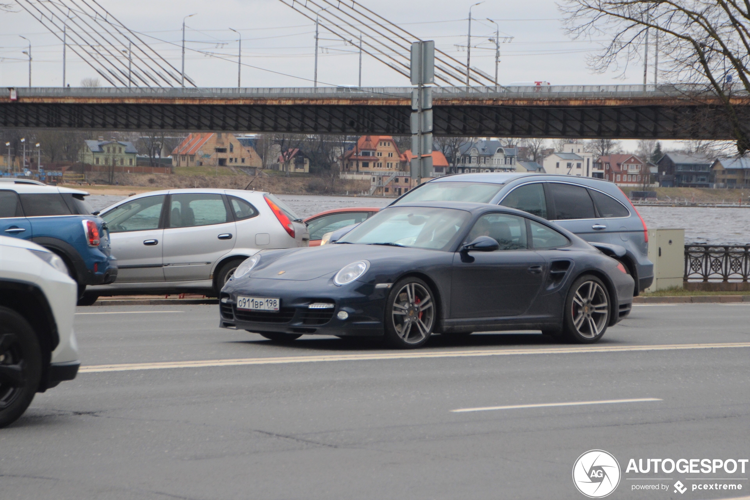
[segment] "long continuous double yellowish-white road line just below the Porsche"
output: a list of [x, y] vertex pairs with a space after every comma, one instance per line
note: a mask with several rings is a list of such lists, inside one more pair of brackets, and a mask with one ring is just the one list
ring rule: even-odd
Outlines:
[[537, 349], [484, 349], [475, 351], [379, 352], [368, 354], [285, 356], [283, 358], [239, 358], [199, 361], [160, 361], [157, 363], [98, 364], [81, 367], [79, 373], [161, 370], [164, 368], [239, 367], [248, 364], [314, 363], [319, 361], [368, 361], [380, 359], [471, 358], [534, 354], [578, 354], [586, 352], [679, 351], [687, 349], [727, 349], [750, 347], [750, 342], [706, 344], [662, 344], [655, 346], [586, 346]]

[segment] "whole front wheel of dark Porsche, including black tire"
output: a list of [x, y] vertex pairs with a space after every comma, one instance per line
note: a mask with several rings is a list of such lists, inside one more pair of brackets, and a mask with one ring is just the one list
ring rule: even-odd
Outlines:
[[416, 349], [430, 339], [437, 322], [435, 294], [418, 277], [406, 277], [391, 288], [386, 301], [385, 340], [398, 349]]

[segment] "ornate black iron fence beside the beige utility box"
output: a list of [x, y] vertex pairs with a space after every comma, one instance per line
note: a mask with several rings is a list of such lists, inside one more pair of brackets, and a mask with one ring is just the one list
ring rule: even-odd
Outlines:
[[685, 245], [685, 281], [750, 280], [750, 245]]

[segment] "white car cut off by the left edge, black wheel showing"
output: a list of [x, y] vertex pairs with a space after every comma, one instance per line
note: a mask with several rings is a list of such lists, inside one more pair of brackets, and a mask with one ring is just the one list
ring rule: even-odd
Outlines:
[[0, 427], [23, 415], [37, 392], [76, 377], [77, 299], [59, 256], [0, 236]]

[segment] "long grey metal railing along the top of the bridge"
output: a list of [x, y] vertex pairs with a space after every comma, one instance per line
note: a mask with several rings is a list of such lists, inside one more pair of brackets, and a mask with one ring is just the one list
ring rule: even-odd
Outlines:
[[[173, 97], [173, 98], [409, 98], [411, 87], [278, 87], [278, 88], [154, 88], [154, 87], [20, 87], [19, 97]], [[433, 97], [687, 97], [710, 94], [705, 85], [513, 85], [496, 87], [434, 87]], [[740, 94], [733, 92], [733, 94]]]

